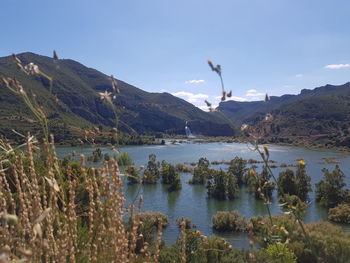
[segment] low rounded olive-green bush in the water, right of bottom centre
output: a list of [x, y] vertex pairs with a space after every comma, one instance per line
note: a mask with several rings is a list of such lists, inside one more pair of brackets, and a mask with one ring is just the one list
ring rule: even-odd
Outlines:
[[220, 232], [245, 231], [246, 221], [237, 211], [218, 211], [212, 218], [213, 228]]

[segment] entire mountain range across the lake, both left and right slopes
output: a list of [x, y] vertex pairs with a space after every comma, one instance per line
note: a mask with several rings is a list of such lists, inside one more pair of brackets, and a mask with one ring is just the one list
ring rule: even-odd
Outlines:
[[[16, 77], [22, 83], [37, 107], [43, 107], [56, 138], [81, 137], [84, 129], [115, 125], [112, 108], [98, 94], [112, 90], [109, 76], [70, 59], [54, 61], [33, 53], [18, 57], [23, 64], [35, 63], [50, 75], [52, 87], [46, 78], [18, 70], [11, 56], [0, 58], [0, 77]], [[169, 93], [149, 93], [117, 81], [120, 94], [114, 103], [118, 129], [125, 133], [185, 134], [187, 121], [195, 135], [240, 136], [237, 130], [248, 123], [269, 142], [350, 147], [350, 83], [272, 96], [269, 103], [221, 102], [221, 113], [209, 113]], [[267, 113], [272, 114], [272, 121], [264, 120]], [[8, 137], [12, 129], [39, 132], [40, 125], [18, 95], [0, 86], [0, 134]]]

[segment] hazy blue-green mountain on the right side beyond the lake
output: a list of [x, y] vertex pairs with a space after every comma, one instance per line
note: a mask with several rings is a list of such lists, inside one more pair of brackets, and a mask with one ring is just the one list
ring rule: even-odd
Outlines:
[[[304, 89], [269, 103], [228, 101], [219, 109], [237, 124], [251, 124], [270, 142], [350, 147], [350, 83]], [[271, 121], [264, 119], [267, 113]]]

